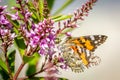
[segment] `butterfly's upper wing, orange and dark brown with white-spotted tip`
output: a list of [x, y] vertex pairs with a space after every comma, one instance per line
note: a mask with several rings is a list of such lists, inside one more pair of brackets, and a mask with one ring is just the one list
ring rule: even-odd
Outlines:
[[77, 38], [69, 38], [66, 40], [66, 43], [78, 45], [93, 52], [99, 45], [103, 44], [106, 39], [107, 36], [105, 35], [89, 35]]

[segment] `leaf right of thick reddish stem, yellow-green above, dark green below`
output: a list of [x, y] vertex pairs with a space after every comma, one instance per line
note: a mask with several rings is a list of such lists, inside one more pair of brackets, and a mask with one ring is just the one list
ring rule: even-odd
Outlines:
[[38, 63], [40, 55], [38, 53], [34, 53], [33, 56], [34, 56], [34, 58], [29, 60], [28, 69], [27, 69], [26, 75], [31, 75], [31, 74], [36, 72], [36, 65]]

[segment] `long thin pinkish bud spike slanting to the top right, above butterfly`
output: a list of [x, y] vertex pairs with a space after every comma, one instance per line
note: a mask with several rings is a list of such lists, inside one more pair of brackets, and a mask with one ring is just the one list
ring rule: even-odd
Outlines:
[[57, 35], [62, 33], [66, 28], [75, 28], [77, 27], [76, 22], [78, 20], [84, 20], [84, 16], [88, 16], [89, 11], [92, 9], [92, 6], [94, 3], [96, 3], [97, 0], [89, 0], [84, 5], [82, 5], [82, 8], [77, 9], [74, 12], [74, 18], [71, 20], [67, 20], [64, 22], [64, 27], [61, 30], [58, 30]]

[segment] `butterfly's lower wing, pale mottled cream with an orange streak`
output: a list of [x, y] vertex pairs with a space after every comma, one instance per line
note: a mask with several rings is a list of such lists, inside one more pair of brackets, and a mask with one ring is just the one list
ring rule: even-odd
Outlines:
[[78, 53], [72, 53], [71, 51], [71, 53], [64, 52], [63, 54], [66, 64], [73, 72], [83, 72], [85, 68], [89, 68], [100, 63], [99, 57], [93, 56], [92, 52], [81, 47], [80, 49]]

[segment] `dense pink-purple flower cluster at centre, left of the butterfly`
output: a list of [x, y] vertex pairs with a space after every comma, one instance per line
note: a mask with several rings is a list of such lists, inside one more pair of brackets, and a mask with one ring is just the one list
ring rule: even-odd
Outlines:
[[[29, 12], [28, 12], [29, 13]], [[41, 55], [48, 54], [52, 57], [55, 53], [55, 38], [56, 31], [53, 28], [53, 21], [44, 19], [42, 22], [35, 24], [32, 22], [30, 31], [26, 31], [26, 36], [29, 38], [32, 47], [39, 46], [38, 53]]]

